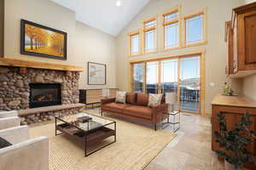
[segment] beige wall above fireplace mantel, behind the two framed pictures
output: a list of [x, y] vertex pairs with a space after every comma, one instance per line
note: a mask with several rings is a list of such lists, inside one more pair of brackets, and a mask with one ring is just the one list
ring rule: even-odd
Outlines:
[[[115, 77], [110, 76], [115, 74], [114, 37], [76, 22], [73, 11], [51, 0], [6, 0], [5, 2], [4, 56], [83, 66], [84, 72], [80, 76], [79, 88], [102, 88], [86, 85], [86, 62], [105, 63], [108, 64], [109, 88], [115, 88]], [[20, 19], [66, 31], [67, 60], [20, 54]]]

